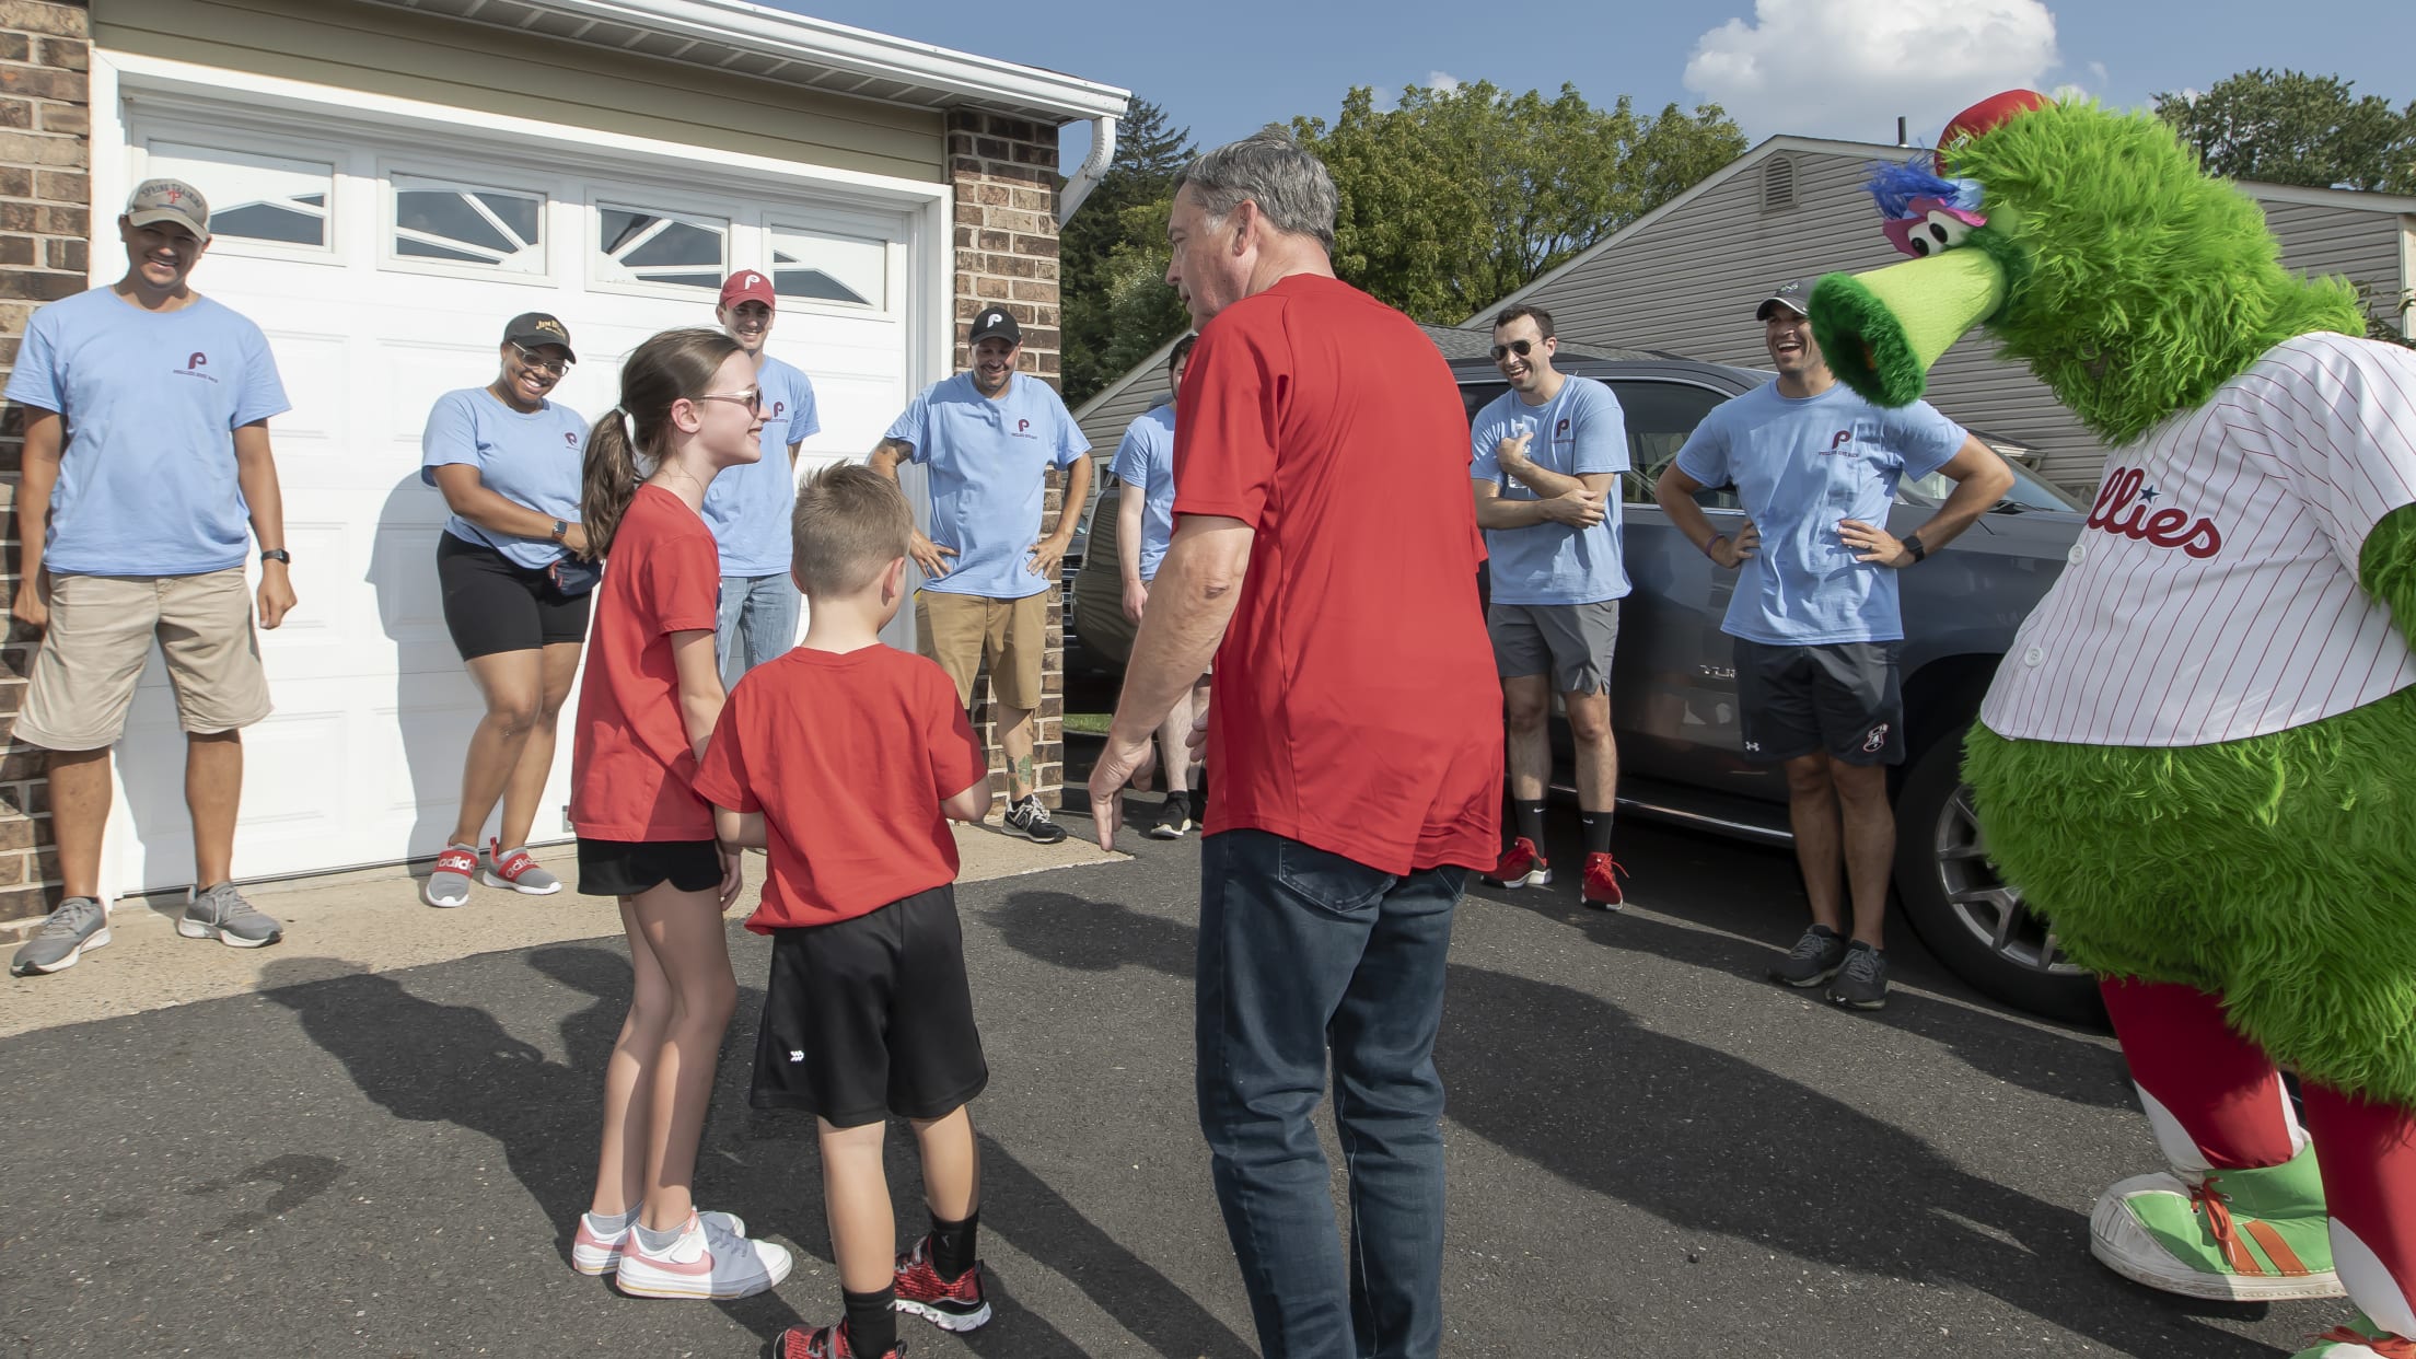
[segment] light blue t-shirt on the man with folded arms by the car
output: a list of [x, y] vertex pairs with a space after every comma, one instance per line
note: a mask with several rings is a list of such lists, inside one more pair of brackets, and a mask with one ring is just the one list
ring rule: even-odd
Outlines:
[[[1469, 479], [1493, 481], [1503, 501], [1539, 501], [1524, 481], [1503, 472], [1496, 447], [1532, 433], [1527, 457], [1561, 476], [1595, 476], [1628, 469], [1628, 421], [1619, 397], [1592, 377], [1563, 377], [1551, 401], [1529, 406], [1503, 392], [1469, 426]], [[1524, 530], [1486, 530], [1496, 605], [1599, 605], [1624, 600], [1628, 568], [1619, 559], [1619, 488], [1609, 513], [1590, 530], [1541, 522]]]

